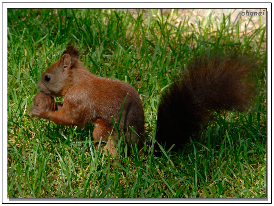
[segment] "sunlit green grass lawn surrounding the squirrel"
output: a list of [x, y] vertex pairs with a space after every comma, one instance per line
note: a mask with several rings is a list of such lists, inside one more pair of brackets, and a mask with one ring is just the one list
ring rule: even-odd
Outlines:
[[[190, 22], [180, 10], [8, 9], [7, 193], [18, 197], [266, 198], [266, 27], [229, 15]], [[219, 19], [219, 20], [218, 20]], [[205, 50], [255, 53], [254, 109], [217, 115], [181, 151], [152, 147], [109, 157], [93, 146], [92, 125], [70, 128], [30, 117], [36, 82], [67, 45], [94, 74], [133, 85], [142, 99], [147, 144], [155, 138], [164, 88]], [[61, 101], [61, 98], [56, 99]], [[187, 118], [187, 117], [182, 117]], [[182, 131], [184, 132], [184, 131]]]

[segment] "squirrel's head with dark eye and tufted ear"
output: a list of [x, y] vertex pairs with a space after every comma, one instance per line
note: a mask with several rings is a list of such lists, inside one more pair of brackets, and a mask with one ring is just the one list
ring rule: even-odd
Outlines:
[[52, 97], [64, 96], [71, 85], [72, 70], [78, 62], [79, 52], [69, 46], [61, 59], [52, 64], [37, 82], [37, 88]]

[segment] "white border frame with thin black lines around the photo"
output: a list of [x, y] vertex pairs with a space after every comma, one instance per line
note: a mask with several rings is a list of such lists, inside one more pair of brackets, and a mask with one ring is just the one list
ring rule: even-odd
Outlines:
[[[181, 3], [174, 1], [174, 3], [161, 3], [152, 1], [152, 3], [127, 3], [126, 1], [119, 1], [124, 3], [2, 3], [2, 203], [17, 204], [41, 204], [47, 201], [51, 203], [63, 204], [77, 204], [77, 203], [245, 203], [245, 204], [259, 204], [259, 203], [272, 203], [272, 119], [271, 119], [271, 104], [272, 104], [272, 5], [271, 3], [201, 3], [200, 1], [192, 1], [192, 3]], [[16, 3], [15, 3], [16, 2]], [[153, 3], [154, 2], [154, 3]], [[177, 2], [177, 3], [176, 3]], [[107, 4], [106, 4], [107, 3]], [[267, 9], [267, 199], [8, 199], [7, 198], [7, 9], [8, 8], [266, 8]], [[1, 52], [2, 52], [1, 51]], [[2, 76], [3, 74], [3, 76]]]

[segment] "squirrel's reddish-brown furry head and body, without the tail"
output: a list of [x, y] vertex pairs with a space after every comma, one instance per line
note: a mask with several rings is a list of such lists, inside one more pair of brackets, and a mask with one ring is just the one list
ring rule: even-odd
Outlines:
[[[61, 59], [51, 65], [37, 83], [37, 88], [45, 94], [64, 96], [63, 105], [58, 105], [57, 111], [33, 107], [31, 113], [61, 125], [82, 127], [93, 123], [96, 126], [94, 140], [102, 136], [106, 141], [113, 128], [111, 116], [118, 124], [122, 104], [128, 94], [119, 129], [124, 131], [127, 144], [130, 144], [133, 132], [129, 126], [132, 126], [140, 136], [135, 134], [134, 141], [138, 142], [138, 148], [141, 149], [144, 141], [144, 112], [136, 89], [123, 81], [91, 74], [78, 60], [78, 56], [79, 52], [74, 47], [68, 47]], [[46, 76], [50, 77], [49, 81], [46, 81]], [[117, 141], [115, 133], [114, 130], [112, 137]]]

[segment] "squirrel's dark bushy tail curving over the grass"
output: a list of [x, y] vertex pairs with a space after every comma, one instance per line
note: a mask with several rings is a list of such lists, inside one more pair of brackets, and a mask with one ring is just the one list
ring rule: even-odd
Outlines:
[[237, 54], [195, 58], [164, 91], [158, 107], [156, 140], [178, 148], [197, 135], [215, 112], [243, 111], [255, 93], [255, 60]]

